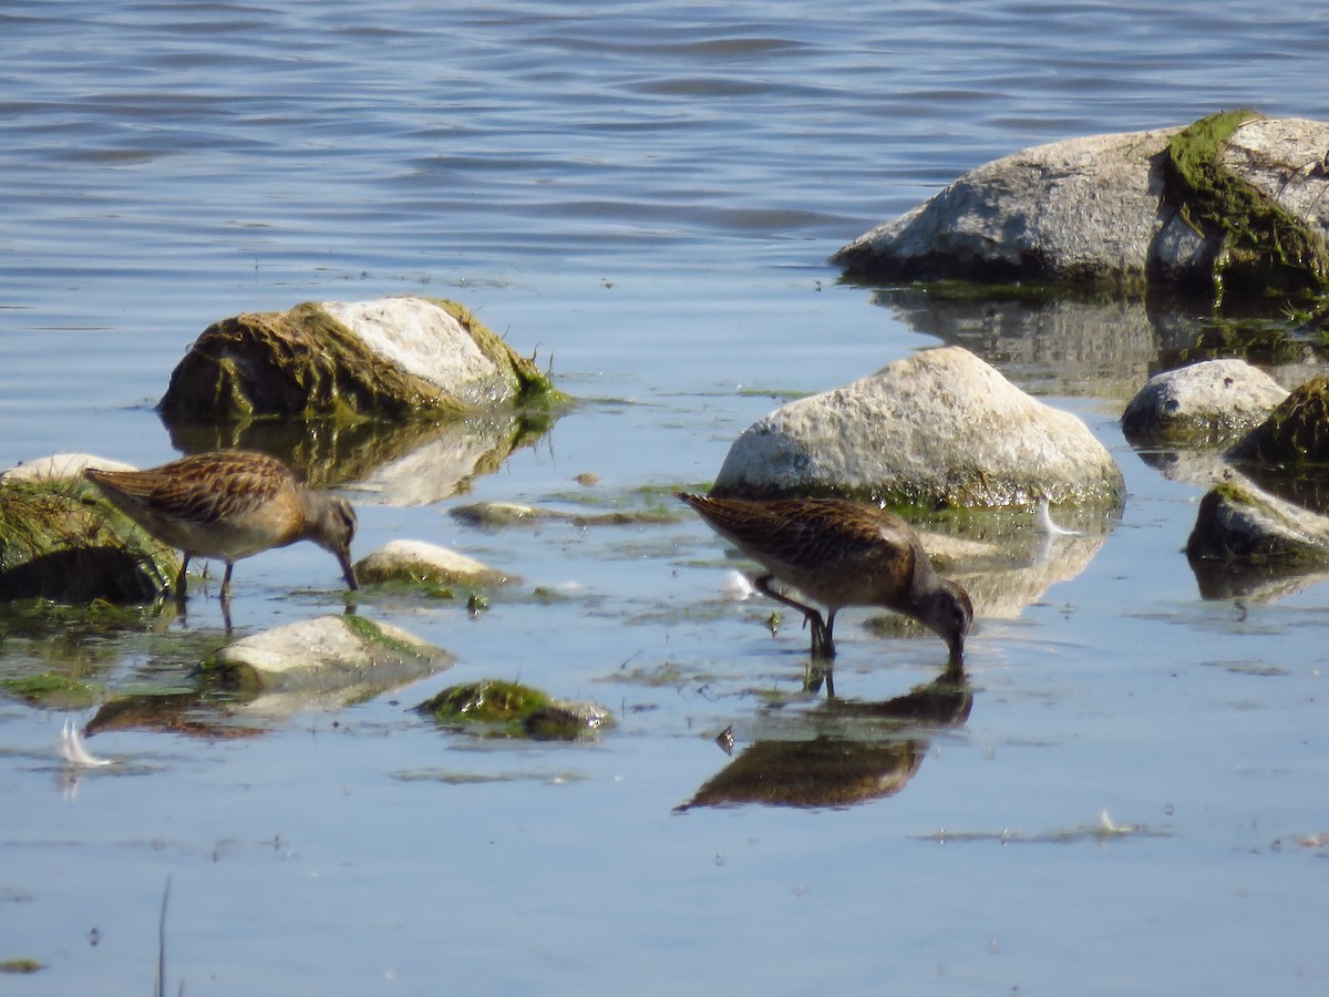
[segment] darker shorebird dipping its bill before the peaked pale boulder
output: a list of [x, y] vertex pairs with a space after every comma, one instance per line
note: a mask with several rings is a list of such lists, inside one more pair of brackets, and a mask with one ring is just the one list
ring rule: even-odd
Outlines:
[[[964, 658], [974, 618], [969, 596], [937, 576], [918, 534], [894, 513], [841, 498], [678, 497], [766, 568], [754, 586], [803, 613], [813, 658], [835, 657], [831, 631], [844, 606], [884, 606], [912, 617], [946, 642], [953, 663]], [[820, 602], [825, 619], [813, 606], [772, 589], [772, 581]]]

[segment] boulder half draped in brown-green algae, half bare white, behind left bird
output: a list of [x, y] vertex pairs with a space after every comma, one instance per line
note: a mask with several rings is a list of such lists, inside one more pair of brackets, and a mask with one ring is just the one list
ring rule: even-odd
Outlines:
[[453, 302], [314, 302], [209, 326], [171, 374], [167, 423], [449, 419], [558, 399]]

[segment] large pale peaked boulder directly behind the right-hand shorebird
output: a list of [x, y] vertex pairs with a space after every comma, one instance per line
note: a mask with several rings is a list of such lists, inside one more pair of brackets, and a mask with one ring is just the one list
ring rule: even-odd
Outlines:
[[771, 412], [734, 441], [712, 495], [961, 508], [1046, 497], [1116, 508], [1123, 488], [1084, 423], [946, 347]]

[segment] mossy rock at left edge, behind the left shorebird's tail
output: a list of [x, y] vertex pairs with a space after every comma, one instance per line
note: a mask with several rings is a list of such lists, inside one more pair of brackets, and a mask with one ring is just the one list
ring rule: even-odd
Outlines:
[[178, 573], [173, 549], [82, 479], [0, 480], [0, 600], [152, 602]]

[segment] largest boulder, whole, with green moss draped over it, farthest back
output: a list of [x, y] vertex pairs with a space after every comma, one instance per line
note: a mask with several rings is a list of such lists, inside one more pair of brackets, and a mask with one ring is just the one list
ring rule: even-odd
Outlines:
[[1329, 124], [1227, 112], [979, 166], [833, 257], [873, 280], [1325, 290]]

